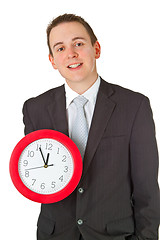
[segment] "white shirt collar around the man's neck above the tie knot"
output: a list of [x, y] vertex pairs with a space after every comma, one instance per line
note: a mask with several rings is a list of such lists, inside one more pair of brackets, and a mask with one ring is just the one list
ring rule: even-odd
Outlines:
[[[73, 101], [74, 98], [78, 97], [79, 94], [73, 91], [67, 83], [65, 83], [65, 92], [66, 92], [66, 109], [69, 107], [71, 102]], [[97, 98], [97, 93], [99, 90], [100, 86], [100, 77], [98, 76], [97, 80], [95, 83], [86, 91], [82, 94], [85, 98], [88, 99], [89, 102], [94, 104], [96, 102]]]

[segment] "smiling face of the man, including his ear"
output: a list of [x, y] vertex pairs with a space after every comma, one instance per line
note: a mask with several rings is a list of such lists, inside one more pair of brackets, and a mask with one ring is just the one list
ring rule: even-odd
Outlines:
[[96, 59], [100, 56], [98, 42], [92, 46], [91, 39], [78, 22], [61, 23], [50, 33], [54, 69], [70, 84], [92, 82], [97, 78]]

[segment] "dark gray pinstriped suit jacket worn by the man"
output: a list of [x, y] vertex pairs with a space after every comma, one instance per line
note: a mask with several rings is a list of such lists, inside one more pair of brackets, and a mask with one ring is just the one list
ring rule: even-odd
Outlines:
[[[29, 99], [25, 134], [68, 135], [64, 86]], [[42, 204], [38, 240], [158, 239], [158, 152], [149, 100], [101, 79], [83, 175], [66, 199]], [[81, 220], [81, 221], [79, 221]]]

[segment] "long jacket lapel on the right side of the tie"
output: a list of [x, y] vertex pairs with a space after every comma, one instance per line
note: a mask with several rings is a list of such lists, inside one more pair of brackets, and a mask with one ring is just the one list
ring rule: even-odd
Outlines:
[[104, 130], [107, 127], [108, 121], [115, 108], [115, 103], [109, 99], [109, 96], [111, 96], [112, 94], [113, 90], [111, 86], [101, 79], [101, 84], [97, 95], [97, 101], [83, 160], [84, 167], [82, 178], [85, 176], [88, 170], [97, 146], [103, 136]]

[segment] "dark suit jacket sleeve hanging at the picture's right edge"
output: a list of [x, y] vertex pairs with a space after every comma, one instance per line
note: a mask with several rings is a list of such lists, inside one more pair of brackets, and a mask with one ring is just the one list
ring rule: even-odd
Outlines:
[[133, 207], [138, 239], [158, 239], [160, 193], [155, 126], [148, 98], [135, 116], [130, 139]]

